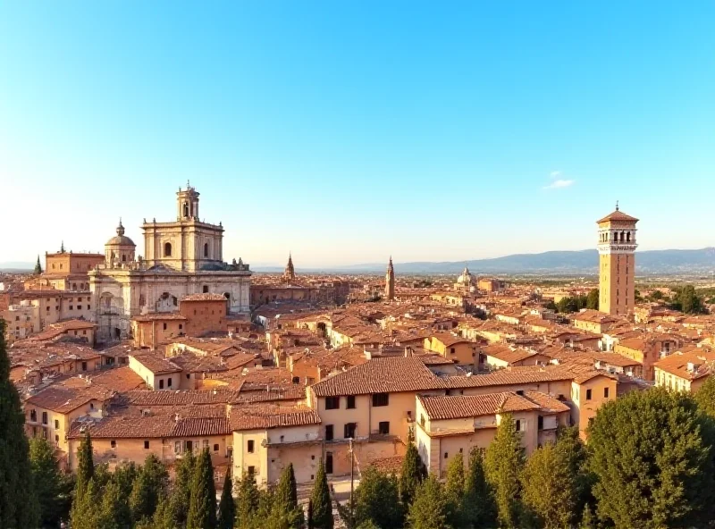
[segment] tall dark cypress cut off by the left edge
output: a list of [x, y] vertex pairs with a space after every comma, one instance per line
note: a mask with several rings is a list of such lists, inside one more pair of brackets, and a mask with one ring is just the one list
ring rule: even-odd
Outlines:
[[24, 424], [20, 395], [10, 381], [5, 323], [0, 319], [0, 527], [38, 525], [38, 500]]

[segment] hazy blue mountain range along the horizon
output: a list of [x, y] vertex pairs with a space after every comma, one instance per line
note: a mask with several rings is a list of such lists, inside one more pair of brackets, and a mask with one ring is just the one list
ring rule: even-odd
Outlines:
[[[698, 250], [646, 250], [636, 253], [635, 271], [645, 273], [711, 273], [715, 271], [715, 248]], [[598, 272], [598, 251], [552, 251], [541, 254], [515, 254], [493, 259], [418, 261], [395, 263], [396, 273], [460, 273], [465, 265], [473, 273], [549, 273], [577, 274]], [[25, 270], [34, 263], [0, 263], [0, 270]], [[282, 272], [282, 266], [257, 266], [257, 272]], [[344, 265], [325, 268], [299, 268], [298, 272], [383, 273], [385, 263]]]

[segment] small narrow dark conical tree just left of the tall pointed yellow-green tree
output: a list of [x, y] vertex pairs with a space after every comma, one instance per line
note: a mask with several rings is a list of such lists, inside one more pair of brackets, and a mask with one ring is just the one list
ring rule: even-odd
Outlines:
[[475, 447], [469, 453], [464, 489], [464, 525], [472, 529], [496, 526], [496, 506], [484, 471], [484, 449]]

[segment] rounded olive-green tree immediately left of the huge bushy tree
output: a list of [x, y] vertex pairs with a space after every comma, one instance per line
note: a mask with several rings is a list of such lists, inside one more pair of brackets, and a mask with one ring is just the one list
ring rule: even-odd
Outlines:
[[526, 508], [544, 529], [568, 527], [576, 505], [575, 476], [569, 474], [566, 454], [547, 443], [534, 450], [521, 474]]

